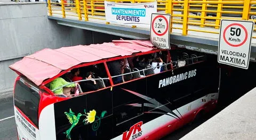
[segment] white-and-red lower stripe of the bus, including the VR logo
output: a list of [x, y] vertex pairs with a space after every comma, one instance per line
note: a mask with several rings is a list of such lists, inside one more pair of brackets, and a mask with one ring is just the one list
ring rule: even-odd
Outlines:
[[[203, 98], [203, 97], [202, 97]], [[193, 115], [195, 110], [198, 110], [198, 108], [191, 109], [189, 111], [185, 111], [190, 106], [194, 106], [198, 104], [202, 100], [202, 98], [199, 98], [193, 102], [190, 102], [188, 104], [185, 104], [184, 106], [178, 108], [179, 112], [177, 110], [172, 110], [174, 113], [178, 114], [180, 112], [186, 112], [181, 113], [181, 115], [186, 118], [186, 116]], [[202, 107], [204, 107], [202, 105]], [[183, 110], [183, 111], [182, 111]], [[143, 117], [138, 117], [138, 119], [141, 119], [141, 121], [138, 121], [138, 123], [135, 123], [129, 127], [127, 130], [124, 130], [123, 134], [119, 133], [118, 136], [114, 137], [113, 139], [159, 139], [166, 134], [169, 134], [170, 132], [173, 132], [175, 129], [180, 128], [183, 123], [182, 119], [176, 119], [172, 117], [171, 113], [166, 113], [165, 115], [161, 115], [159, 117], [156, 117], [153, 120], [150, 121], [143, 121], [145, 118], [148, 117], [144, 115]], [[144, 123], [147, 122], [147, 123]], [[142, 124], [142, 125], [141, 125]]]

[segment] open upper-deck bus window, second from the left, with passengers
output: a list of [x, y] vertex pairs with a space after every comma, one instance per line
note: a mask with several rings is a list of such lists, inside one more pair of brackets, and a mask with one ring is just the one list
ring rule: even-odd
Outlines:
[[171, 68], [167, 51], [132, 56], [107, 62], [113, 83], [118, 84], [136, 78], [167, 71]]

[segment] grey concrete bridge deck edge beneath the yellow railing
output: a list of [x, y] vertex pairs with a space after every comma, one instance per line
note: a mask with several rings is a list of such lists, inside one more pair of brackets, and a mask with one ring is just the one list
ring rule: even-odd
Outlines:
[[[150, 28], [140, 27], [132, 28], [131, 26], [106, 24], [105, 20], [91, 19], [89, 21], [79, 21], [77, 17], [66, 16], [48, 16], [49, 19], [56, 20], [60, 25], [66, 25], [69, 27], [81, 28], [85, 30], [97, 31], [107, 34], [113, 34], [115, 36], [132, 38], [132, 39], [149, 39]], [[181, 24], [173, 24], [173, 27], [182, 28]], [[212, 32], [219, 32], [219, 29], [210, 27], [198, 27], [190, 25], [190, 29], [198, 30], [204, 29]], [[256, 32], [253, 33], [256, 36]], [[206, 52], [208, 54], [217, 55], [218, 51], [219, 34], [189, 31], [187, 36], [182, 36], [182, 30], [173, 29], [170, 33], [170, 42], [178, 45], [178, 47], [184, 47], [191, 50]], [[256, 39], [252, 39], [251, 61], [256, 61]]]

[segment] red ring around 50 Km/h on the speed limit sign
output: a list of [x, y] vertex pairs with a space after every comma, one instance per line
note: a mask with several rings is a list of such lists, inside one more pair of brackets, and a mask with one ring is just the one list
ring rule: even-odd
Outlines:
[[[245, 38], [244, 38], [244, 40], [243, 40], [241, 43], [237, 44], [237, 45], [228, 42], [228, 40], [227, 40], [227, 38], [226, 38], [226, 32], [227, 32], [228, 28], [231, 27], [231, 26], [235, 26], [235, 25], [241, 27], [241, 28], [244, 30], [244, 32], [245, 32]], [[248, 38], [248, 32], [247, 32], [246, 28], [245, 28], [242, 24], [232, 23], [232, 24], [228, 25], [228, 26], [224, 29], [224, 32], [223, 32], [223, 39], [224, 39], [224, 41], [225, 41], [229, 46], [232, 46], [232, 47], [240, 47], [240, 46], [244, 45], [244, 43], [246, 42], [247, 38]]]

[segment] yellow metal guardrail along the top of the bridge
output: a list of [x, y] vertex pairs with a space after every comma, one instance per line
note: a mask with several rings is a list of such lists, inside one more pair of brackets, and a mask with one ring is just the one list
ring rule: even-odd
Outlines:
[[[76, 18], [84, 21], [96, 19], [104, 22], [106, 20], [103, 0], [74, 0], [69, 2], [60, 0], [60, 3], [50, 1], [53, 0], [48, 0], [50, 16], [59, 14], [63, 18]], [[152, 2], [152, 0], [109, 1], [116, 3]], [[182, 30], [183, 36], [186, 36], [188, 31], [219, 34], [218, 31], [210, 30], [209, 27], [219, 29], [221, 19], [256, 21], [256, 1], [254, 0], [158, 0], [157, 11], [171, 14], [170, 32], [172, 32], [172, 29]], [[173, 27], [173, 23], [181, 24], [182, 27]], [[192, 29], [189, 28], [190, 25], [201, 28]]]

